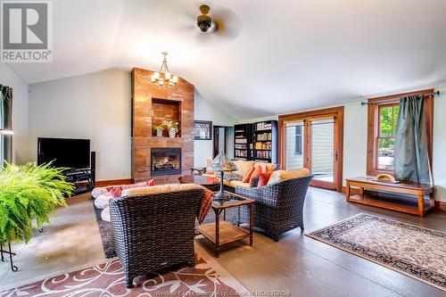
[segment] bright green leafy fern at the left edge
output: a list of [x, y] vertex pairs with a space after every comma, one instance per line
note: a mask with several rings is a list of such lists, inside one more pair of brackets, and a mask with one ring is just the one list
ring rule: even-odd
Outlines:
[[62, 175], [64, 168], [50, 163], [29, 162], [17, 166], [4, 163], [0, 170], [0, 243], [28, 242], [37, 229], [49, 222], [57, 205], [67, 206], [65, 196], [73, 186]]

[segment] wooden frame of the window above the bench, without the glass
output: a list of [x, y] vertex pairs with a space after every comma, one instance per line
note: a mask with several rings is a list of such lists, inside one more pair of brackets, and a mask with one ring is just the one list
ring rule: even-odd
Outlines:
[[[433, 94], [434, 89], [388, 95], [368, 100], [368, 153], [367, 153], [367, 175], [377, 176], [379, 174], [393, 174], [393, 169], [378, 169], [378, 139], [380, 138], [380, 109], [400, 103], [401, 97], [408, 95]], [[432, 164], [432, 139], [434, 134], [434, 95], [425, 96], [425, 127], [427, 134], [427, 151], [429, 161]], [[381, 137], [385, 138], [385, 137]], [[392, 138], [392, 137], [391, 137]]]

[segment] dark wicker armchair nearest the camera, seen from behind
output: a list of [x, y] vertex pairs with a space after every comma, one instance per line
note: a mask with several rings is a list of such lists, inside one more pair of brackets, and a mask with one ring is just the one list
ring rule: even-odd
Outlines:
[[123, 196], [110, 202], [115, 251], [127, 287], [147, 272], [188, 263], [195, 265], [194, 223], [202, 189]]

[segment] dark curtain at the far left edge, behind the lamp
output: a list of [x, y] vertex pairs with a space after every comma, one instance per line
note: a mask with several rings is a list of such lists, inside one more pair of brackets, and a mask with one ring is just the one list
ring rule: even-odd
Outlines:
[[[12, 88], [0, 85], [0, 128], [12, 129]], [[0, 134], [0, 162], [12, 162], [12, 135]]]

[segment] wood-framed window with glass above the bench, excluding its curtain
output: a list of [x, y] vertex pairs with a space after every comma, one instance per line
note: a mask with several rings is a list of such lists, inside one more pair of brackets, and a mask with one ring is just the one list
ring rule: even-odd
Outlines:
[[[367, 174], [393, 173], [395, 132], [400, 112], [400, 98], [407, 95], [433, 94], [434, 89], [389, 95], [368, 100]], [[425, 96], [425, 126], [429, 159], [432, 162], [434, 97]]]

